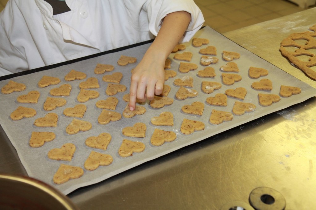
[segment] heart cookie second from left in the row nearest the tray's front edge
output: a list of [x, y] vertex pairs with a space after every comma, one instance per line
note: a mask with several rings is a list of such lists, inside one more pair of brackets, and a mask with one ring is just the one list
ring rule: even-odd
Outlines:
[[84, 162], [84, 168], [93, 171], [99, 166], [108, 166], [113, 162], [111, 155], [102, 154], [99, 152], [91, 151], [87, 160]]

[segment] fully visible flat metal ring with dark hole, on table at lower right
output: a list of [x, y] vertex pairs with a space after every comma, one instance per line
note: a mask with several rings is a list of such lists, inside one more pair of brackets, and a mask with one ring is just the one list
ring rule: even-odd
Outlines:
[[252, 190], [249, 202], [256, 210], [283, 210], [286, 206], [283, 195], [269, 187]]

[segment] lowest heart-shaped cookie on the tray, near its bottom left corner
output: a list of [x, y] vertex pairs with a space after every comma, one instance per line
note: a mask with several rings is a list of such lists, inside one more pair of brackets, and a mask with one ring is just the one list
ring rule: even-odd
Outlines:
[[63, 184], [68, 182], [69, 179], [80, 178], [83, 175], [83, 169], [77, 166], [68, 166], [66, 164], [60, 164], [57, 172], [53, 177], [55, 184]]

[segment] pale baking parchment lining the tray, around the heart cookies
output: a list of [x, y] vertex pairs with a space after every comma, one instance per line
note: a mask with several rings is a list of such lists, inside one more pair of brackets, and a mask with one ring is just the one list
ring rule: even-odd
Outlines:
[[[188, 61], [179, 61], [173, 59], [173, 56], [176, 53], [172, 53], [169, 56], [170, 60], [172, 61], [170, 70], [176, 72], [175, 77], [169, 78], [167, 81], [165, 81], [165, 84], [171, 87], [171, 90], [167, 96], [173, 99], [173, 103], [171, 105], [165, 105], [162, 108], [151, 108], [149, 102], [147, 102], [140, 105], [146, 109], [146, 112], [144, 114], [136, 115], [132, 118], [125, 118], [122, 116], [120, 120], [111, 121], [105, 125], [98, 123], [98, 117], [101, 114], [102, 109], [96, 107], [96, 102], [100, 100], [105, 100], [109, 97], [116, 97], [119, 102], [114, 111], [120, 114], [123, 113], [123, 110], [125, 109], [127, 104], [125, 101], [123, 101], [123, 96], [129, 93], [131, 69], [136, 67], [144, 52], [149, 47], [149, 44], [116, 52], [113, 54], [103, 55], [86, 61], [80, 61], [74, 64], [10, 79], [15, 82], [25, 84], [26, 90], [21, 92], [13, 92], [10, 94], [1, 94], [0, 108], [2, 111], [0, 114], [0, 120], [4, 131], [16, 148], [19, 158], [21, 159], [21, 162], [25, 167], [28, 175], [54, 186], [58, 190], [62, 191], [64, 194], [68, 194], [71, 191], [76, 190], [77, 188], [80, 188], [82, 186], [87, 186], [100, 182], [106, 178], [112, 177], [120, 172], [140, 165], [146, 161], [153, 160], [159, 156], [165, 155], [192, 143], [201, 141], [217, 133], [226, 131], [235, 126], [244, 124], [266, 114], [281, 110], [283, 108], [289, 107], [293, 104], [305, 101], [306, 99], [315, 96], [314, 88], [292, 77], [288, 73], [285, 73], [284, 71], [271, 65], [270, 63], [262, 60], [251, 52], [241, 48], [239, 45], [231, 42], [230, 40], [210, 29], [209, 27], [205, 27], [204, 29], [197, 32], [195, 37], [207, 38], [209, 39], [210, 43], [207, 45], [202, 45], [201, 47], [193, 47], [192, 42], [188, 42], [184, 44], [186, 49], [183, 51], [178, 51], [177, 53], [191, 52], [193, 55], [190, 63], [197, 64], [198, 68], [196, 70], [189, 71], [188, 73], [180, 73], [179, 63]], [[213, 57], [217, 57], [218, 62], [216, 64], [210, 64], [209, 66], [202, 66], [200, 64], [202, 55], [199, 54], [199, 50], [201, 50], [202, 48], [206, 48], [207, 46], [216, 47], [217, 55]], [[229, 62], [222, 59], [223, 51], [237, 52], [238, 54], [240, 54], [239, 59], [234, 59], [232, 61], [237, 64], [239, 72], [224, 72], [220, 70], [221, 67], [225, 66]], [[126, 66], [119, 66], [117, 65], [117, 61], [119, 60], [119, 57], [121, 55], [137, 57], [137, 62], [133, 64], [128, 64]], [[97, 63], [111, 64], [114, 66], [114, 70], [110, 72], [105, 72], [103, 74], [95, 74], [94, 68]], [[215, 69], [216, 76], [214, 78], [202, 78], [197, 76], [198, 71], [203, 70], [206, 67], [212, 67]], [[268, 75], [259, 77], [258, 79], [252, 79], [248, 76], [249, 67], [264, 68], [268, 70]], [[86, 79], [65, 81], [64, 76], [68, 74], [71, 69], [86, 73]], [[105, 91], [109, 82], [104, 82], [102, 78], [104, 75], [112, 75], [115, 72], [123, 73], [123, 78], [121, 79], [120, 84], [125, 85], [127, 87], [127, 90], [125, 90], [124, 92], [119, 92], [114, 96], [108, 96], [106, 95]], [[224, 85], [222, 83], [222, 73], [232, 73], [235, 75], [239, 75], [241, 77], [241, 80], [238, 82], [234, 82], [233, 85]], [[39, 88], [37, 83], [43, 76], [58, 77], [61, 82], [57, 85], [49, 85], [44, 88]], [[173, 85], [173, 82], [176, 79], [188, 78], [189, 76], [193, 79], [193, 87], [189, 89], [197, 90], [197, 96], [188, 97], [184, 100], [176, 99], [175, 95], [176, 92], [179, 90], [179, 87]], [[91, 77], [96, 77], [98, 79], [100, 87], [87, 90], [98, 91], [99, 97], [95, 99], [89, 99], [87, 102], [78, 102], [77, 96], [80, 92], [79, 84]], [[261, 79], [269, 79], [272, 82], [272, 90], [255, 90], [251, 87], [254, 82], [259, 82]], [[214, 90], [212, 93], [206, 94], [201, 90], [201, 84], [203, 81], [217, 82], [221, 84], [221, 88]], [[0, 81], [0, 87], [3, 87], [8, 82], [9, 80]], [[50, 90], [52, 90], [53, 88], [58, 88], [64, 84], [70, 84], [72, 86], [70, 96], [51, 96]], [[282, 97], [279, 95], [281, 85], [299, 87], [301, 89], [301, 93], [292, 95], [290, 97]], [[227, 106], [210, 105], [208, 102], [206, 102], [207, 98], [209, 97], [214, 97], [216, 94], [219, 93], [225, 94], [226, 90], [235, 89], [238, 87], [243, 87], [247, 90], [244, 99], [227, 96]], [[17, 102], [18, 96], [25, 95], [33, 90], [37, 90], [40, 92], [40, 97], [37, 103]], [[258, 102], [259, 93], [275, 94], [279, 96], [281, 100], [279, 102], [272, 103], [270, 106], [261, 106]], [[47, 97], [63, 98], [67, 102], [64, 106], [57, 107], [51, 111], [45, 111], [43, 108], [43, 104], [46, 101]], [[217, 111], [232, 113], [232, 109], [236, 101], [252, 103], [256, 106], [256, 110], [252, 112], [246, 112], [242, 115], [232, 114], [232, 120], [224, 121], [218, 125], [210, 123], [210, 115], [213, 109]], [[201, 102], [204, 104], [204, 111], [202, 115], [185, 114], [181, 111], [181, 108], [184, 105], [191, 105], [193, 102]], [[78, 104], [84, 104], [87, 107], [83, 118], [68, 117], [63, 114], [66, 108], [73, 108], [75, 107], [75, 105]], [[23, 118], [21, 120], [11, 120], [10, 114], [19, 106], [35, 109], [36, 115], [30, 118]], [[151, 123], [151, 119], [153, 117], [157, 117], [162, 112], [166, 111], [173, 114], [173, 126], [156, 126]], [[42, 118], [48, 113], [55, 113], [58, 115], [57, 127], [37, 127], [33, 125], [36, 119]], [[180, 132], [180, 126], [184, 118], [188, 120], [197, 120], [199, 122], [202, 122], [205, 125], [204, 130], [195, 131], [190, 135], [182, 134]], [[72, 122], [73, 119], [90, 122], [92, 124], [92, 128], [88, 131], [79, 131], [76, 134], [67, 134], [66, 127]], [[135, 123], [144, 123], [146, 125], [147, 129], [145, 132], [145, 137], [126, 137], [122, 134], [124, 128], [133, 126]], [[154, 133], [155, 128], [165, 131], [173, 131], [176, 134], [176, 139], [172, 142], [165, 142], [161, 146], [153, 146], [150, 143], [150, 138]], [[41, 147], [32, 148], [29, 146], [29, 140], [33, 131], [54, 132], [56, 137], [54, 140], [44, 143], [44, 145]], [[96, 137], [101, 133], [109, 133], [112, 137], [111, 142], [109, 143], [106, 150], [94, 149], [88, 147], [85, 144], [85, 141], [88, 137]], [[129, 157], [119, 156], [118, 151], [120, 145], [123, 142], [123, 139], [142, 142], [145, 145], [144, 151], [140, 153], [133, 153], [133, 155]], [[62, 145], [66, 143], [71, 143], [76, 146], [76, 150], [71, 161], [52, 160], [48, 158], [48, 152], [51, 149], [61, 148]], [[108, 166], [99, 166], [94, 171], [88, 171], [84, 168], [84, 162], [87, 160], [91, 151], [111, 155], [113, 158], [113, 162]], [[53, 176], [57, 172], [61, 164], [81, 167], [83, 169], [82, 177], [77, 179], [70, 179], [64, 184], [53, 183]]]

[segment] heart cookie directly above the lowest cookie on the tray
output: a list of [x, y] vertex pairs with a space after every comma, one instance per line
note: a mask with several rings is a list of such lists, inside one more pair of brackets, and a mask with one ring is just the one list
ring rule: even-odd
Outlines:
[[76, 151], [76, 146], [73, 143], [65, 143], [61, 148], [49, 150], [47, 156], [52, 160], [67, 160], [70, 161]]

